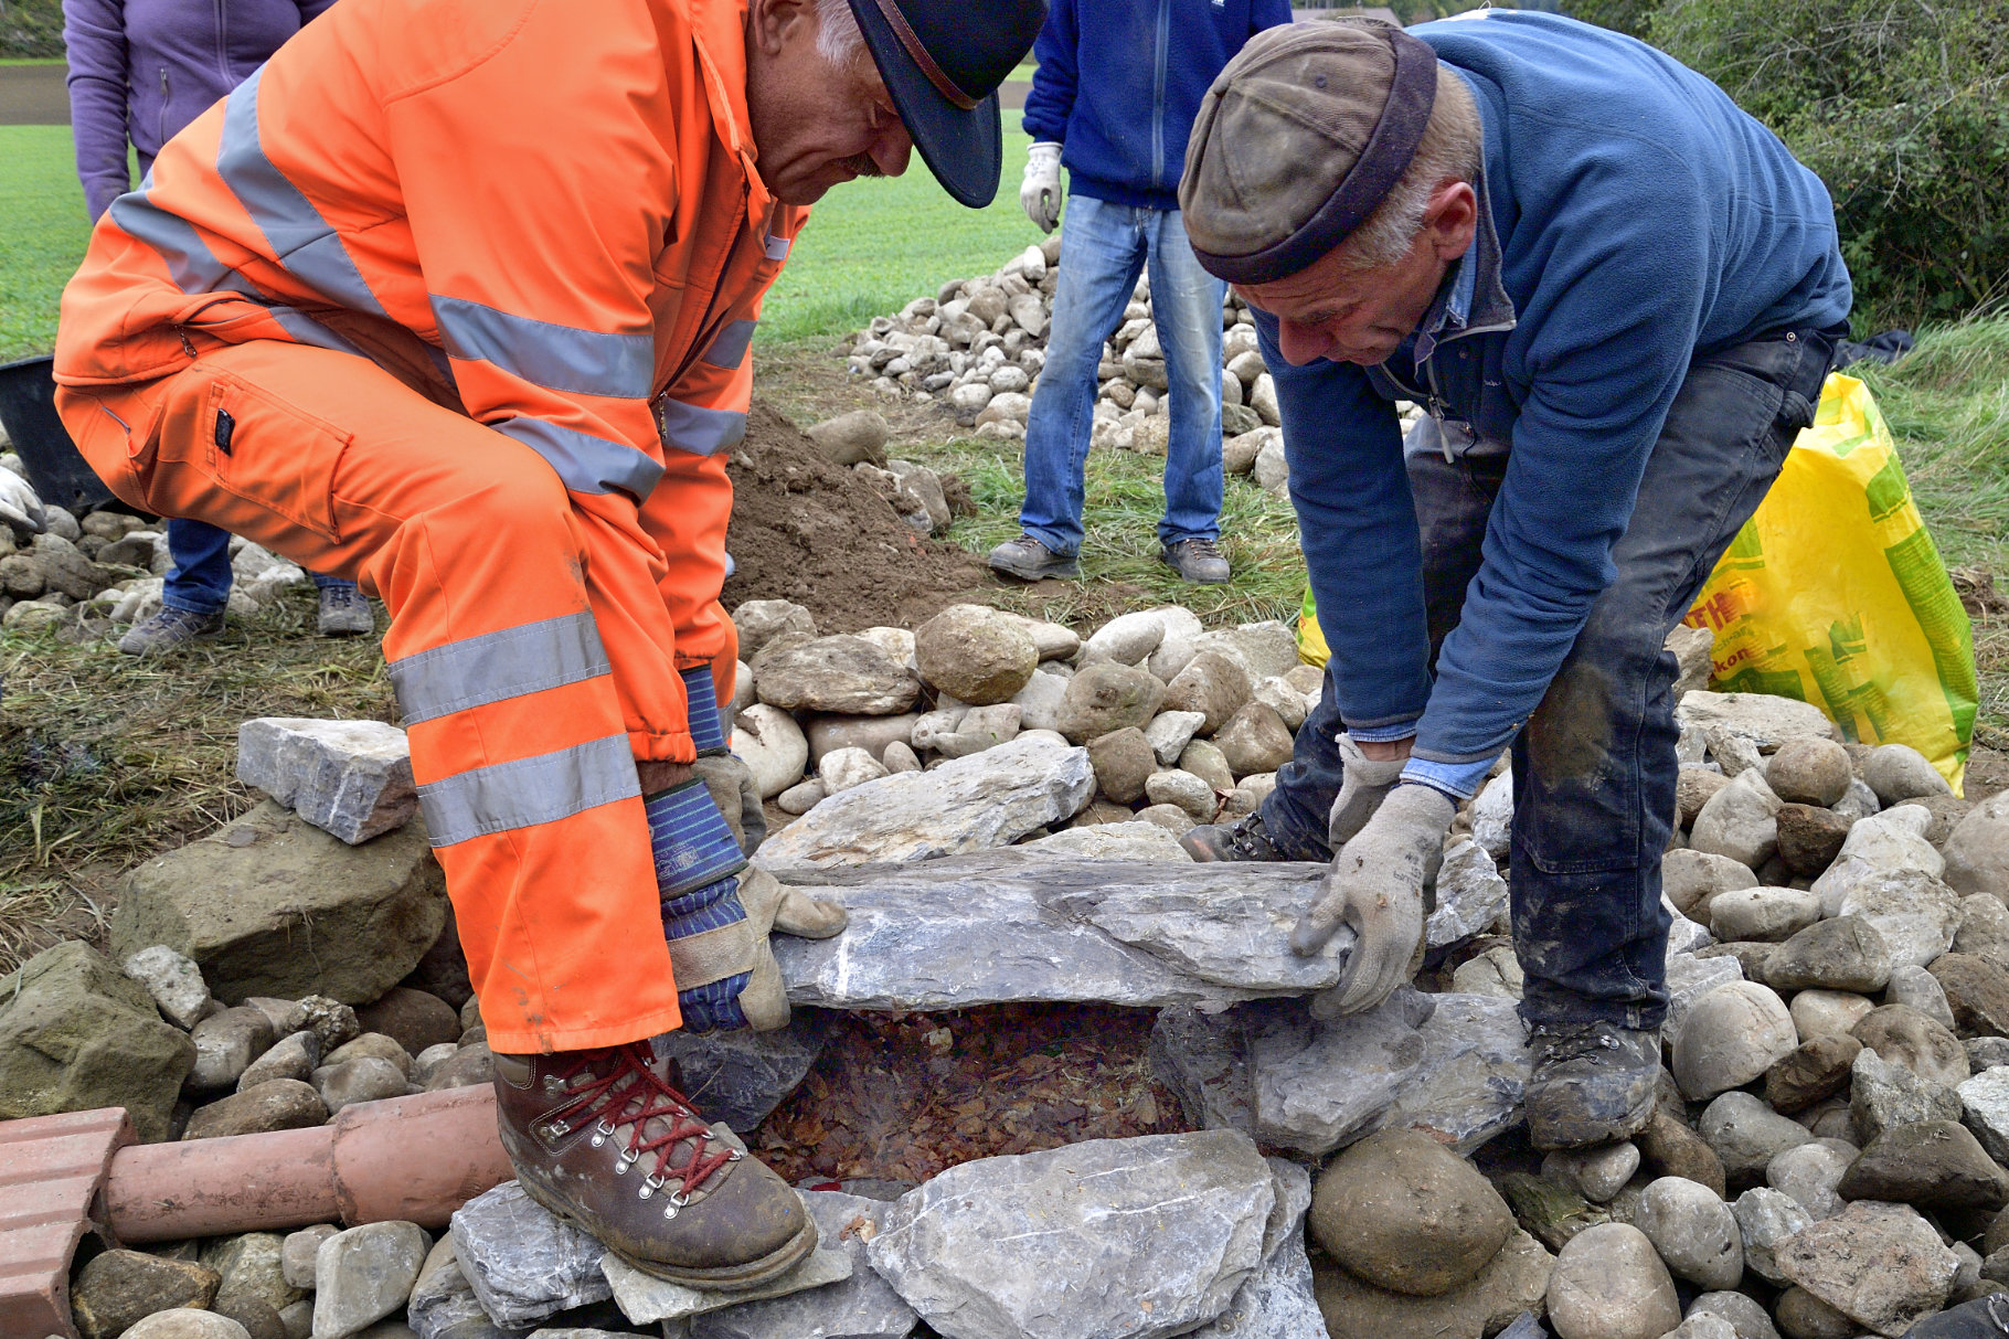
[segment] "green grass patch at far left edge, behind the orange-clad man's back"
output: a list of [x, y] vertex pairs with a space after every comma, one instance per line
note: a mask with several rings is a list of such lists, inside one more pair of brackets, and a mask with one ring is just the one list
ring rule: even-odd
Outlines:
[[56, 300], [90, 223], [70, 129], [0, 125], [0, 362], [56, 344]]

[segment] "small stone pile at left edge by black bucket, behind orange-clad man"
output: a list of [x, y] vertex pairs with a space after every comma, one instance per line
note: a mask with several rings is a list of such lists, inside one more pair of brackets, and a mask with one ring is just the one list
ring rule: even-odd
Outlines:
[[[0, 454], [0, 468], [26, 476], [20, 456]], [[0, 525], [0, 627], [40, 631], [78, 621], [137, 623], [161, 607], [161, 579], [173, 565], [167, 533], [121, 511], [76, 519], [46, 505], [42, 535]], [[231, 539], [229, 611], [251, 617], [307, 573], [281, 557]]]

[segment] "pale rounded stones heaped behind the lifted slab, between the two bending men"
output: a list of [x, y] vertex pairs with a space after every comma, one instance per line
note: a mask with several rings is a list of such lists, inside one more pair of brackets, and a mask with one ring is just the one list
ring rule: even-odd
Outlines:
[[[984, 605], [952, 605], [914, 631], [834, 637], [788, 601], [747, 601], [733, 623], [745, 657], [733, 752], [761, 798], [802, 814], [761, 852], [777, 867], [1027, 836], [1051, 850], [1185, 858], [1179, 832], [1262, 804], [1320, 684], [1284, 623], [1205, 631], [1177, 605], [1119, 615], [1087, 641]], [[1051, 770], [1049, 756], [1071, 766]], [[1000, 804], [1027, 758], [1053, 772], [1045, 802]], [[848, 796], [890, 774], [916, 776]], [[898, 850], [878, 836], [910, 820], [936, 836]]]

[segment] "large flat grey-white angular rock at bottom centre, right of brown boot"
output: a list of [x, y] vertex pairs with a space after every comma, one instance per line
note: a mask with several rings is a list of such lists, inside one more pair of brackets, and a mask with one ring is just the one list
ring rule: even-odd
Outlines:
[[1227, 1309], [1274, 1206], [1244, 1134], [1091, 1140], [952, 1166], [894, 1202], [866, 1251], [958, 1339], [1161, 1339]]

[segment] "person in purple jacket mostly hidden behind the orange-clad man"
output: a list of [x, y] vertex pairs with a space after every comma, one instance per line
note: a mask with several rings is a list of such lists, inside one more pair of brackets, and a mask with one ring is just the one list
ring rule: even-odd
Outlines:
[[[70, 58], [70, 127], [76, 175], [90, 221], [133, 189], [127, 145], [141, 177], [181, 127], [249, 78], [279, 44], [333, 0], [62, 0]], [[121, 637], [127, 655], [149, 655], [223, 631], [231, 597], [231, 537], [203, 521], [169, 521], [175, 565], [161, 611]], [[352, 581], [313, 575], [319, 631], [374, 631], [370, 599]]]

